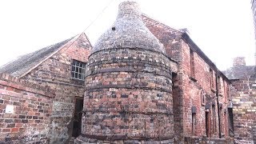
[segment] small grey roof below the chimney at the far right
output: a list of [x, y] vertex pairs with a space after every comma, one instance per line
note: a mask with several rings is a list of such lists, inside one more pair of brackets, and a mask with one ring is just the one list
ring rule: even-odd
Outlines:
[[256, 66], [234, 66], [223, 71], [223, 73], [229, 79], [250, 78], [256, 73]]

